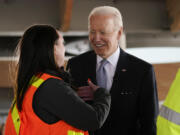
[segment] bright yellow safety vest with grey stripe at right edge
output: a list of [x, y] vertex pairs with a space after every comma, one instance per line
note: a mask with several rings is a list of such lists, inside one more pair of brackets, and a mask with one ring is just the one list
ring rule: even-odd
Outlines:
[[180, 69], [161, 107], [157, 135], [180, 135]]

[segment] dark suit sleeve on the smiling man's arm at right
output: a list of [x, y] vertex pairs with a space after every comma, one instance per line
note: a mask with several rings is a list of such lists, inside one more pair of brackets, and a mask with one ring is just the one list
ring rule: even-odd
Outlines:
[[153, 67], [143, 77], [140, 94], [140, 135], [156, 135], [156, 118], [159, 112], [156, 79]]

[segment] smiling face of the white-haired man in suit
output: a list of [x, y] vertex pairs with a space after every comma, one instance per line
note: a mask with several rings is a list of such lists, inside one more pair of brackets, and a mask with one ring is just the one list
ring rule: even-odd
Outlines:
[[121, 30], [115, 30], [111, 15], [93, 15], [90, 18], [89, 40], [97, 55], [108, 58], [117, 47]]

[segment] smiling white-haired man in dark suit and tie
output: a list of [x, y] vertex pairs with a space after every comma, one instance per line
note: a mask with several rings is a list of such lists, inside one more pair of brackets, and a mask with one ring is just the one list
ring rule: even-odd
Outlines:
[[[151, 64], [119, 47], [122, 30], [121, 14], [116, 8], [93, 9], [89, 15], [89, 40], [93, 51], [70, 59], [67, 69], [84, 100], [93, 100], [90, 91], [81, 89], [88, 79], [95, 84], [106, 80], [104, 87], [111, 93], [111, 110], [95, 135], [156, 135], [155, 73]], [[104, 66], [105, 77], [99, 78], [98, 69], [104, 59], [108, 61]]]

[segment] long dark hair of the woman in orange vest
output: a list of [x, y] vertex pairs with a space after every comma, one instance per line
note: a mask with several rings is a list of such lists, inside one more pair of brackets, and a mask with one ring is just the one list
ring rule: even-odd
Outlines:
[[18, 110], [33, 75], [47, 69], [57, 70], [54, 45], [59, 38], [57, 30], [50, 25], [33, 25], [18, 43], [19, 61], [16, 67], [15, 101]]

